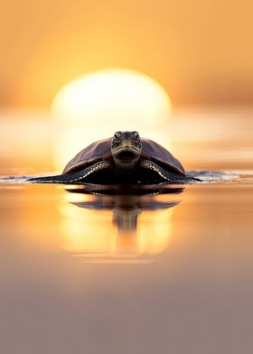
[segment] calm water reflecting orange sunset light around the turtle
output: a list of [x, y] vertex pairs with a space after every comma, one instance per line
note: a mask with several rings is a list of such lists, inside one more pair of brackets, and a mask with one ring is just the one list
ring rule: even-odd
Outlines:
[[[173, 152], [238, 178], [154, 195], [0, 183], [1, 352], [251, 352], [252, 115], [223, 113], [175, 116]], [[51, 124], [9, 117], [0, 174], [54, 171]]]

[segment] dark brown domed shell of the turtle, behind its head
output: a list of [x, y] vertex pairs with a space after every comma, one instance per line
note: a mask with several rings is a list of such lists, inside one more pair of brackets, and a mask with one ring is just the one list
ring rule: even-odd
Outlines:
[[[80, 171], [88, 167], [90, 164], [97, 163], [101, 160], [108, 160], [112, 157], [110, 146], [112, 137], [99, 140], [92, 143], [80, 151], [69, 163], [65, 166], [63, 173]], [[141, 157], [146, 160], [151, 160], [163, 167], [165, 170], [170, 170], [185, 176], [183, 165], [166, 150], [162, 145], [155, 143], [153, 140], [141, 138], [142, 154]]]

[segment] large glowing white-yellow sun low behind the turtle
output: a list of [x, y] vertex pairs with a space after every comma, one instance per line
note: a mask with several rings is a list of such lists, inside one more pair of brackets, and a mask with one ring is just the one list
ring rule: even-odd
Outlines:
[[155, 79], [134, 70], [111, 69], [89, 73], [64, 86], [52, 102], [52, 113], [65, 120], [132, 129], [138, 123], [167, 120], [171, 107], [168, 94]]

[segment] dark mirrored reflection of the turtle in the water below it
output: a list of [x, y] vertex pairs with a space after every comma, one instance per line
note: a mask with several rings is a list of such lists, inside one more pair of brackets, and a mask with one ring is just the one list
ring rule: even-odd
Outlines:
[[[92, 194], [94, 198], [83, 201], [70, 201], [70, 204], [88, 210], [111, 210], [112, 221], [117, 228], [117, 237], [136, 238], [137, 219], [143, 211], [168, 210], [177, 206], [182, 198], [183, 188], [156, 185], [132, 186], [120, 189], [120, 186], [106, 186], [97, 191], [94, 186], [66, 189], [70, 193]], [[165, 194], [163, 198], [159, 196]], [[159, 223], [158, 223], [159, 224]]]

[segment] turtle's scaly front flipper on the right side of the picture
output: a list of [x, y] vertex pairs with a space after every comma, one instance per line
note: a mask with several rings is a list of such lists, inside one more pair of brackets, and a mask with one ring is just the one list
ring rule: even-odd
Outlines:
[[143, 160], [140, 163], [140, 167], [145, 171], [151, 173], [151, 176], [153, 178], [153, 183], [154, 182], [184, 183], [184, 182], [200, 181], [198, 179], [195, 179], [194, 177], [190, 177], [187, 175], [183, 176], [183, 174], [181, 175], [172, 171], [167, 171], [163, 167], [159, 166], [159, 164], [154, 163], [153, 161], [150, 160]]

